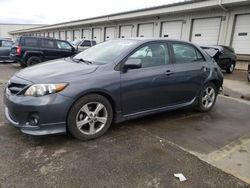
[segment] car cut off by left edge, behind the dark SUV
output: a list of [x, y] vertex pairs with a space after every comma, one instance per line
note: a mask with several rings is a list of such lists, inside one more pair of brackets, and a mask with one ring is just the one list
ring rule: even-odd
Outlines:
[[13, 41], [0, 38], [0, 61], [13, 61], [9, 56], [12, 45]]

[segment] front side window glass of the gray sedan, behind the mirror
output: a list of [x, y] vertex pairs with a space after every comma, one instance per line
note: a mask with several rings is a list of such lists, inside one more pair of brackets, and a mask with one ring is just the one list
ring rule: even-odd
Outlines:
[[129, 59], [141, 59], [142, 67], [153, 67], [169, 64], [168, 48], [165, 43], [148, 44], [135, 53]]

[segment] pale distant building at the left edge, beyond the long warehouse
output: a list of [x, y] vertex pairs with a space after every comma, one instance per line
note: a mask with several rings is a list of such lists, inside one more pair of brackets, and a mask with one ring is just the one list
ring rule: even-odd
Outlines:
[[34, 28], [41, 25], [34, 24], [0, 24], [0, 37], [2, 38], [12, 38], [13, 35], [10, 35], [10, 31], [21, 30], [21, 29], [29, 29]]

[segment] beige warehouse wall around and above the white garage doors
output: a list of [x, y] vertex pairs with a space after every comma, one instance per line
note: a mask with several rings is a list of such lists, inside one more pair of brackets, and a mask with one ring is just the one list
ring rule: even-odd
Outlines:
[[[29, 35], [38, 35], [39, 33], [44, 33], [42, 36], [48, 36], [48, 33], [51, 32], [59, 32], [59, 38], [65, 39], [65, 40], [73, 40], [74, 36], [67, 37], [67, 35], [74, 33], [74, 30], [80, 31], [80, 36], [83, 36], [83, 29], [89, 29], [90, 36], [89, 38], [94, 39], [93, 33], [96, 31], [96, 28], [99, 28], [101, 30], [101, 38], [100, 42], [105, 40], [105, 28], [107, 27], [114, 27], [115, 38], [120, 37], [120, 28], [122, 26], [131, 26], [132, 27], [132, 37], [138, 37], [139, 36], [139, 27], [142, 24], [147, 23], [153, 23], [153, 36], [152, 37], [161, 37], [162, 33], [162, 24], [164, 22], [175, 22], [175, 21], [181, 21], [182, 24], [182, 30], [181, 30], [181, 40], [185, 41], [191, 41], [192, 39], [192, 32], [193, 32], [193, 25], [196, 19], [204, 19], [204, 18], [219, 18], [220, 19], [220, 28], [218, 32], [218, 41], [217, 44], [220, 45], [227, 45], [232, 46], [232, 40], [235, 30], [235, 21], [237, 15], [241, 14], [250, 14], [250, 5], [245, 6], [237, 6], [237, 7], [230, 7], [227, 8], [227, 10], [223, 10], [220, 7], [216, 7], [213, 9], [204, 9], [204, 10], [195, 10], [193, 12], [188, 13], [176, 13], [176, 14], [167, 14], [167, 13], [161, 13], [159, 12], [159, 16], [140, 16], [136, 18], [127, 18], [127, 19], [117, 19], [115, 21], [105, 21], [105, 22], [99, 22], [99, 23], [88, 23], [86, 25], [75, 25], [72, 27], [64, 27], [62, 25], [58, 25], [58, 28], [53, 30], [46, 30], [42, 29], [36, 32], [26, 32], [26, 33], [17, 33], [14, 35], [14, 37], [17, 37], [21, 34], [29, 34]], [[206, 20], [204, 20], [206, 21]], [[250, 25], [250, 20], [249, 23]], [[211, 28], [215, 27], [213, 24], [211, 24]], [[209, 29], [209, 28], [208, 28]], [[67, 31], [67, 34], [65, 35], [65, 32]], [[63, 33], [63, 36], [62, 36]], [[250, 36], [250, 32], [248, 33]], [[65, 38], [65, 36], [67, 38]], [[51, 37], [51, 36], [50, 36]], [[250, 41], [249, 41], [250, 42]], [[250, 45], [250, 44], [249, 44]], [[232, 46], [234, 47], [234, 46]], [[240, 52], [239, 52], [240, 53]], [[250, 52], [249, 54], [250, 55]]]

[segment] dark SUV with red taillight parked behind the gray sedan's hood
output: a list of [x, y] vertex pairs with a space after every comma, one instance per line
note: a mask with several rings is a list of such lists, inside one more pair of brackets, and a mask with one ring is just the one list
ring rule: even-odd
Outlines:
[[26, 67], [43, 61], [69, 57], [76, 53], [76, 49], [67, 41], [21, 36], [13, 45], [10, 57], [22, 67]]

